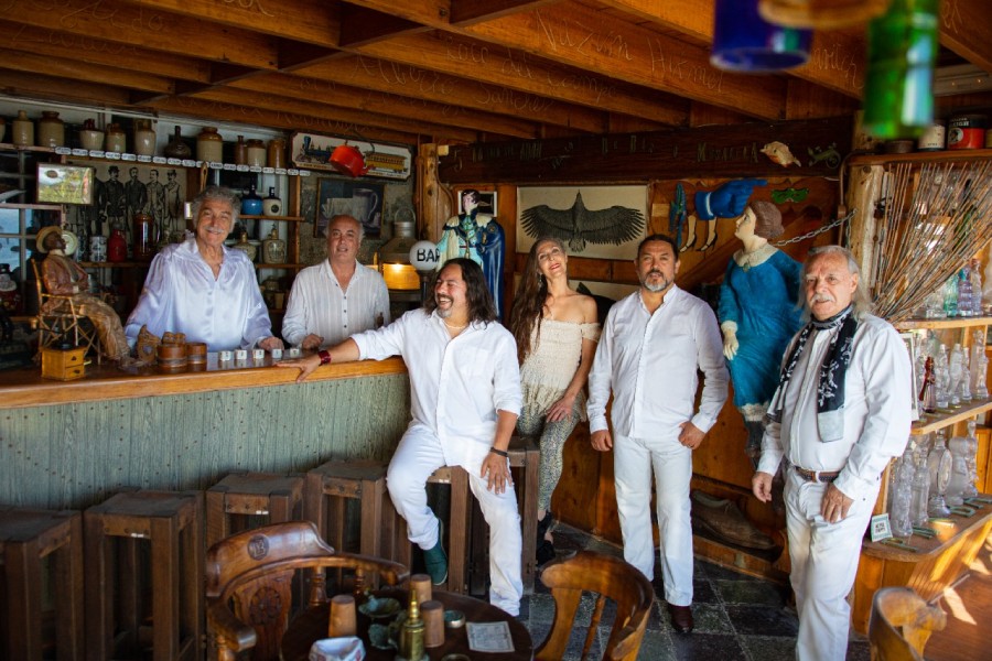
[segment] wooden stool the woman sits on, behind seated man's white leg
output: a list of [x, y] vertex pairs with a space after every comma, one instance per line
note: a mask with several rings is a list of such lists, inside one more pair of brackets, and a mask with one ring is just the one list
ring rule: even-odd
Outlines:
[[[520, 511], [520, 527], [524, 535], [524, 556], [521, 559], [521, 578], [524, 592], [533, 590], [537, 573], [537, 503], [540, 481], [541, 451], [536, 441], [526, 436], [514, 436], [507, 448], [510, 472], [514, 476], [514, 489], [517, 494], [517, 508]], [[478, 502], [472, 507], [472, 546], [468, 565], [468, 592], [483, 594], [489, 576], [489, 535], [488, 527], [482, 516]]]

